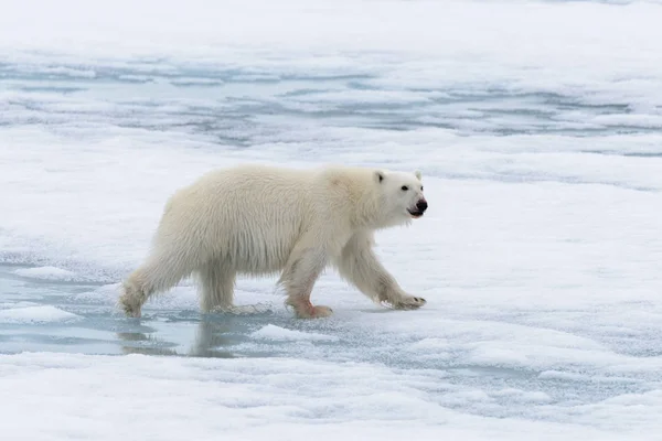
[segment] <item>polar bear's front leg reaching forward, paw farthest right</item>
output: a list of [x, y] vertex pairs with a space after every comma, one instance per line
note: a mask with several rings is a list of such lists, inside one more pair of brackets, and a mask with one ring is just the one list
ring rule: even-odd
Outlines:
[[367, 233], [352, 237], [334, 262], [340, 275], [365, 295], [393, 309], [415, 310], [426, 304], [424, 298], [409, 295], [399, 287], [377, 259], [373, 243]]

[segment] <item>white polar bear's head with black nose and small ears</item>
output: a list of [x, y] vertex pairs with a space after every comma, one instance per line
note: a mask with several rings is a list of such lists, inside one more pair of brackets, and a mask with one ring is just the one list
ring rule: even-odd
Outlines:
[[376, 170], [373, 179], [381, 189], [382, 219], [380, 226], [408, 224], [421, 217], [427, 209], [423, 194], [421, 173]]

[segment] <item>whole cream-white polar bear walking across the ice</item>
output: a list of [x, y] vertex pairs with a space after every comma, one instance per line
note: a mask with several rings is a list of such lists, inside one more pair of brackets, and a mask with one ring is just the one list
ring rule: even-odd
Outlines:
[[310, 294], [327, 267], [375, 302], [423, 306], [382, 266], [376, 230], [407, 225], [427, 209], [421, 174], [327, 165], [289, 169], [249, 164], [209, 172], [167, 202], [146, 261], [122, 282], [119, 304], [140, 316], [150, 295], [191, 275], [201, 310], [233, 308], [237, 275], [280, 272], [286, 304], [298, 318], [333, 311]]

